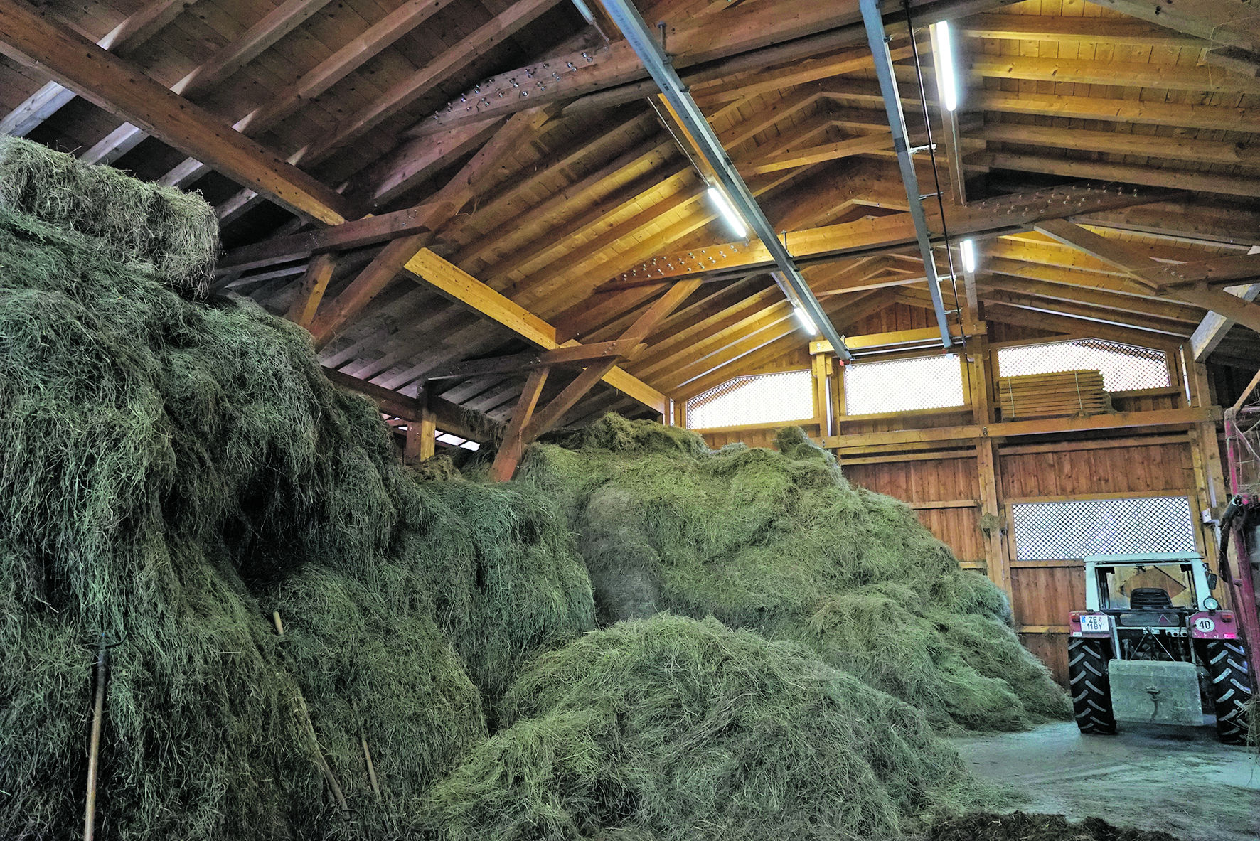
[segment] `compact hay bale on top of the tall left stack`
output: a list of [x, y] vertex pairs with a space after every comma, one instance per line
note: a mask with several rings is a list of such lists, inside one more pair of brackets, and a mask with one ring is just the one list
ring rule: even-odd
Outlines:
[[218, 220], [199, 196], [16, 137], [0, 136], [0, 206], [96, 237], [199, 295], [218, 258]]

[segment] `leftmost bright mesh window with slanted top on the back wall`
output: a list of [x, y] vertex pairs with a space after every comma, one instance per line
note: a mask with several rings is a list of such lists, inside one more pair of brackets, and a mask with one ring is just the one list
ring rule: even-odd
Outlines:
[[687, 402], [688, 429], [813, 417], [814, 375], [810, 371], [737, 376]]

